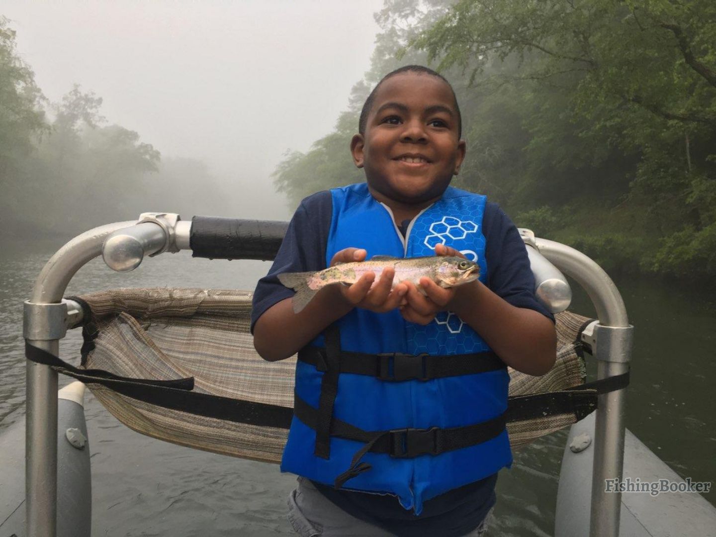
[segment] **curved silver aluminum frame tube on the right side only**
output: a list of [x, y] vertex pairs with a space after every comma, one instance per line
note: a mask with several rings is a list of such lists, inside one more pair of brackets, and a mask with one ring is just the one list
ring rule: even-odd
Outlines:
[[[625, 328], [629, 326], [624, 299], [614, 282], [598, 264], [584, 253], [555, 241], [537, 238], [540, 253], [567, 276], [574, 278], [594, 303], [599, 324]], [[628, 352], [628, 349], [623, 349]], [[621, 353], [620, 353], [621, 354]], [[629, 358], [629, 357], [627, 357]], [[600, 360], [597, 378], [604, 379], [629, 371], [629, 361]], [[606, 493], [607, 479], [621, 481], [624, 471], [624, 415], [627, 390], [617, 390], [598, 397], [594, 428], [594, 466], [591, 481], [590, 537], [618, 537], [621, 493]]]

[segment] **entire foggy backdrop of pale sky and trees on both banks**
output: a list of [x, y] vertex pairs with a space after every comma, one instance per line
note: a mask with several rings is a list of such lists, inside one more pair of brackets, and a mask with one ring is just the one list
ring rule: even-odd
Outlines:
[[[609, 274], [716, 289], [716, 4], [122, 2], [0, 9], [0, 215], [16, 236], [142, 211], [287, 219], [363, 180], [392, 69], [455, 87], [453, 184]], [[277, 195], [278, 194], [278, 195]]]

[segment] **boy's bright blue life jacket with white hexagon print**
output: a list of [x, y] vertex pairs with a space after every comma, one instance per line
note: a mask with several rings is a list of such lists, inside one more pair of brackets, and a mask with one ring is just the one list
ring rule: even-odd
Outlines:
[[[375, 255], [410, 258], [435, 255], [435, 245], [443, 243], [478, 261], [480, 280], [485, 283], [488, 266], [485, 237], [481, 232], [485, 196], [449, 187], [440, 200], [413, 219], [403, 238], [390, 209], [370, 195], [365, 183], [331, 192], [333, 217], [326, 266], [337, 251], [349, 246], [365, 248], [368, 259]], [[337, 325], [341, 351], [425, 353], [437, 357], [481, 353], [464, 357], [473, 364], [490, 352], [488, 344], [468, 324], [448, 312], [441, 312], [435, 321], [422, 326], [405, 321], [397, 310], [375, 314], [357, 308], [339, 319]], [[321, 334], [311, 345], [324, 347], [326, 338]], [[386, 434], [379, 438], [377, 433], [364, 435], [365, 438], [332, 434], [329, 445], [319, 456], [316, 455], [319, 452], [316, 423], [311, 420], [321, 413], [321, 397], [325, 397], [325, 393], [321, 394], [321, 385], [324, 375], [330, 372], [326, 373], [326, 364], [323, 366], [301, 359], [297, 362], [296, 414], [281, 462], [282, 471], [334, 485], [347, 468], [353, 468], [345, 488], [396, 495], [404, 508], [420, 514], [425, 500], [511, 465], [512, 453], [504, 423], [490, 433], [487, 440], [458, 449], [442, 445], [437, 454], [423, 450], [422, 454], [411, 456], [402, 445], [414, 430], [431, 432], [435, 428], [459, 427], [468, 430], [469, 426], [479, 428], [483, 422], [498, 423], [507, 408], [510, 380], [503, 364], [498, 369], [475, 374], [402, 382], [381, 379], [379, 375], [333, 371], [337, 392], [331, 396], [334, 400], [327, 416], [330, 426], [339, 422], [347, 430], [357, 427], [364, 432]], [[300, 407], [311, 411], [311, 420], [299, 419]], [[326, 420], [326, 416], [316, 419]], [[401, 431], [407, 432], [400, 434]], [[416, 437], [425, 437], [427, 432]], [[352, 438], [362, 438], [362, 441]], [[366, 448], [373, 448], [368, 445], [368, 439], [383, 444], [392, 442], [393, 445], [387, 446], [392, 455], [365, 453]], [[357, 464], [357, 459], [362, 463]], [[345, 477], [339, 479], [344, 480]]]

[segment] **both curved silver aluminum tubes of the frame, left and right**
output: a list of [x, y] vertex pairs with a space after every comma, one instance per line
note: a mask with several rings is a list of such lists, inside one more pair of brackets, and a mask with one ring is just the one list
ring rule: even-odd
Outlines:
[[[114, 231], [134, 226], [135, 221], [92, 229], [69, 241], [47, 262], [32, 292], [32, 303], [54, 304], [62, 300], [72, 276], [102, 253], [105, 238]], [[185, 247], [188, 226], [182, 226]], [[599, 265], [574, 248], [536, 239], [538, 250], [558, 269], [584, 287], [603, 326], [629, 326], [624, 301]], [[59, 339], [28, 340], [59, 354]], [[625, 372], [627, 363], [600, 362], [598, 376]], [[30, 537], [57, 535], [57, 373], [27, 362], [26, 410], [26, 520]], [[604, 492], [604, 480], [621, 479], [624, 456], [624, 390], [599, 396], [592, 480], [591, 537], [617, 537], [621, 494]]]

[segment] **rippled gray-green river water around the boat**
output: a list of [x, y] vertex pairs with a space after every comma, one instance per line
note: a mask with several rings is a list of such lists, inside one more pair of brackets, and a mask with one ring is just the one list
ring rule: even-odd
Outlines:
[[[0, 244], [0, 434], [24, 419], [22, 302], [64, 240]], [[118, 287], [253, 289], [269, 269], [261, 261], [208, 261], [189, 253], [150, 258], [130, 274], [95, 260], [67, 295]], [[627, 427], [682, 477], [716, 480], [713, 387], [716, 309], [713, 296], [649, 281], [617, 281], [636, 326]], [[576, 291], [574, 311], [594, 315]], [[70, 331], [60, 352], [77, 362], [81, 335]], [[60, 378], [61, 385], [69, 379]], [[286, 495], [294, 477], [276, 465], [203, 453], [139, 435], [86, 395], [92, 450], [93, 536], [290, 535]], [[498, 482], [492, 535], [550, 536], [566, 431], [515, 453]], [[1, 458], [1, 454], [0, 454]], [[711, 503], [716, 493], [705, 495]]]

